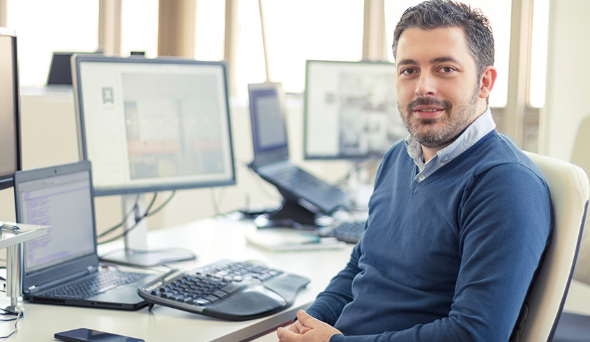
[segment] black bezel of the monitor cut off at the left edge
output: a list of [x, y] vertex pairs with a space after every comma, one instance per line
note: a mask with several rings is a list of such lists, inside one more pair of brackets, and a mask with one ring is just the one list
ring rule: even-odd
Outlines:
[[[15, 31], [6, 27], [0, 27], [0, 36], [9, 37], [11, 40], [12, 47], [12, 59], [13, 59], [13, 111], [14, 111], [14, 123], [15, 123], [15, 165], [16, 170], [22, 170], [22, 141], [20, 134], [20, 82], [18, 72], [18, 55], [17, 55], [17, 35]], [[14, 173], [0, 176], [0, 190], [13, 187], [14, 185]]]

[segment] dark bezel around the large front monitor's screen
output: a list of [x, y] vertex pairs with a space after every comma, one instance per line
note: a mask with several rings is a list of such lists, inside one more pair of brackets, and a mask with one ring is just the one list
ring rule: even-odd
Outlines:
[[[227, 73], [227, 63], [225, 61], [196, 61], [193, 59], [183, 59], [175, 57], [158, 57], [155, 59], [146, 59], [143, 56], [131, 57], [117, 57], [104, 56], [98, 54], [73, 54], [72, 55], [72, 82], [74, 89], [75, 111], [78, 132], [78, 151], [80, 160], [89, 160], [86, 150], [86, 130], [84, 127], [84, 103], [80, 97], [82, 86], [80, 82], [80, 64], [85, 62], [96, 63], [168, 63], [168, 64], [190, 64], [190, 65], [218, 65], [223, 73], [225, 84], [223, 89], [225, 91], [225, 111], [227, 115], [227, 130], [229, 138], [229, 158], [231, 166], [231, 178], [227, 180], [216, 180], [207, 182], [179, 182], [179, 183], [160, 183], [153, 185], [139, 185], [137, 187], [109, 187], [102, 188], [94, 185], [95, 196], [112, 196], [112, 195], [127, 195], [127, 194], [141, 194], [146, 192], [162, 192], [174, 191], [180, 189], [198, 189], [203, 187], [222, 187], [236, 184], [236, 166], [234, 156], [234, 143], [232, 137], [232, 123], [231, 114], [229, 111], [229, 82]], [[92, 161], [91, 161], [92, 162]]]

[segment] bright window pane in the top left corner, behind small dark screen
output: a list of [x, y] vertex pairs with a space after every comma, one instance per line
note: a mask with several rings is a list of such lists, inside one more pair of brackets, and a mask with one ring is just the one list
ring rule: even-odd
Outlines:
[[7, 0], [6, 26], [17, 33], [21, 86], [44, 86], [52, 52], [98, 49], [98, 0]]

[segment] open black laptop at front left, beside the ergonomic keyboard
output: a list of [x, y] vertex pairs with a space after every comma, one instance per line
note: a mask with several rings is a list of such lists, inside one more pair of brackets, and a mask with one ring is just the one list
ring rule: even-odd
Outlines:
[[[22, 297], [28, 302], [135, 310], [153, 275], [99, 264], [90, 162], [15, 173], [17, 222], [50, 226], [23, 243]], [[90, 283], [77, 290], [81, 283]]]

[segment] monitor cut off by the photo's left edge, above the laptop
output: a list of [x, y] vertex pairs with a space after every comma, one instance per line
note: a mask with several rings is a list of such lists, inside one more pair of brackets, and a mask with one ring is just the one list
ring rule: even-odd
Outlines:
[[11, 187], [21, 168], [19, 105], [16, 36], [0, 27], [0, 189]]

